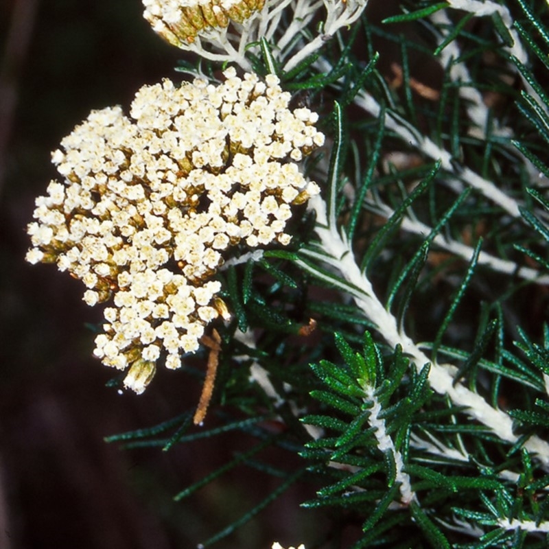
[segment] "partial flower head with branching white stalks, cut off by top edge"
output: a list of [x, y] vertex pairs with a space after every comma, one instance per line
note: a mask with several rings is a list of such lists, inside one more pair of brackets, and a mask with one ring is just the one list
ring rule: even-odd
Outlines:
[[[338, 30], [356, 21], [368, 0], [142, 0], [144, 18], [168, 43], [202, 58], [252, 67], [250, 48], [264, 40], [290, 71]], [[283, 12], [286, 12], [284, 15]], [[304, 32], [316, 21], [318, 32]], [[313, 38], [312, 38], [313, 36]]]

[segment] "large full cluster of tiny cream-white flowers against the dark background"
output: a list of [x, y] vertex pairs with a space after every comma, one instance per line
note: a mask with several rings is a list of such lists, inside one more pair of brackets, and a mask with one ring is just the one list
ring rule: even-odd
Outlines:
[[319, 192], [291, 162], [323, 144], [318, 115], [290, 111], [273, 75], [224, 76], [143, 86], [131, 119], [93, 111], [52, 154], [65, 180], [36, 199], [28, 226], [27, 261], [56, 261], [89, 305], [113, 297], [94, 354], [132, 365], [125, 384], [137, 393], [157, 360], [178, 368], [212, 320], [229, 318], [211, 279], [224, 250], [288, 244], [290, 205]]

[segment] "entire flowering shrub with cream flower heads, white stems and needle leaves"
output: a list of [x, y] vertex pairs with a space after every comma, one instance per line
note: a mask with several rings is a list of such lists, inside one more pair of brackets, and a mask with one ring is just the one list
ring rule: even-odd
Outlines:
[[[199, 78], [93, 111], [52, 156], [27, 260], [109, 302], [95, 355], [141, 393], [206, 347], [194, 424], [229, 406], [198, 436], [259, 439], [176, 500], [242, 463], [283, 479], [204, 546], [299, 479], [343, 509], [315, 547], [547, 546], [549, 18], [403, 3], [379, 27], [366, 0], [145, 0]], [[190, 420], [109, 440], [170, 449]]]

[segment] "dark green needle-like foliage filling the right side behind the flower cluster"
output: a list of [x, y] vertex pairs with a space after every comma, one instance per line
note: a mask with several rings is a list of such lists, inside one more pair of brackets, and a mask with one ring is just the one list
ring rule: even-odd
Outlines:
[[[222, 432], [255, 439], [176, 495], [235, 467], [277, 478], [205, 546], [298, 478], [316, 492], [304, 495], [305, 508], [341, 518], [334, 532], [296, 546], [347, 549], [334, 541], [347, 528], [351, 549], [547, 546], [546, 533], [528, 528], [549, 521], [549, 463], [526, 449], [549, 434], [547, 282], [538, 283], [549, 274], [547, 15], [534, 2], [499, 3], [515, 20], [508, 28], [498, 11], [402, 4], [380, 24], [364, 17], [287, 72], [275, 43], [250, 50], [258, 73], [276, 73], [322, 115], [329, 148], [304, 170], [327, 205], [321, 229], [347, 248], [336, 257], [341, 247], [323, 246], [303, 207], [288, 248], [227, 257], [244, 259], [219, 274], [233, 314], [216, 326], [223, 346], [209, 414], [220, 424], [192, 428], [187, 411], [108, 439], [166, 450]], [[449, 23], [432, 19], [439, 12]], [[532, 60], [513, 54], [516, 36]], [[338, 270], [349, 257], [370, 286]], [[396, 343], [384, 318], [369, 316], [369, 299], [393, 318]], [[441, 373], [452, 380], [448, 393], [480, 395], [507, 420], [509, 412], [512, 436], [502, 439], [469, 401], [432, 390]], [[299, 465], [272, 463], [275, 447]]]

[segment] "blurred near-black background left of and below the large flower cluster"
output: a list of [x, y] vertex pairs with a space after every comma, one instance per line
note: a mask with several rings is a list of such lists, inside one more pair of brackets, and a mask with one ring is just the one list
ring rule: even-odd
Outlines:
[[[92, 358], [86, 327], [100, 310], [67, 273], [23, 260], [60, 139], [91, 109], [127, 111], [141, 85], [180, 79], [181, 52], [141, 12], [140, 0], [0, 1], [0, 549], [194, 548], [279, 484], [237, 469], [176, 503], [253, 441], [229, 435], [170, 452], [104, 443], [194, 406], [200, 386], [161, 371], [139, 397], [107, 388], [113, 371]], [[310, 497], [290, 489], [216, 547], [313, 539], [313, 516], [299, 509]]]

